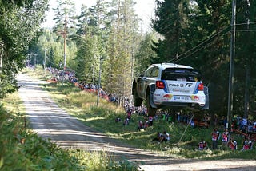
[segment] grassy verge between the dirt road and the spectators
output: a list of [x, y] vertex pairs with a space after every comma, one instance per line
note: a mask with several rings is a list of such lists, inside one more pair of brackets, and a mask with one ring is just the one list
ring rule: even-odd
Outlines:
[[[211, 128], [190, 128], [180, 123], [168, 123], [167, 121], [154, 121], [154, 125], [144, 131], [137, 130], [137, 122], [143, 119], [142, 116], [133, 115], [129, 125], [122, 125], [122, 122], [115, 123], [115, 118], [120, 117], [122, 120], [126, 113], [122, 108], [100, 99], [99, 105], [96, 106], [97, 97], [94, 94], [86, 93], [74, 87], [70, 83], [58, 83], [45, 85], [45, 89], [51, 93], [54, 101], [62, 108], [85, 125], [102, 132], [109, 136], [115, 137], [123, 143], [149, 149], [158, 153], [169, 155], [177, 158], [200, 158], [200, 159], [222, 159], [222, 158], [244, 158], [256, 159], [254, 155], [256, 149], [241, 151], [243, 137], [232, 135], [234, 140], [238, 141], [238, 150], [230, 149], [204, 150], [198, 151], [198, 142], [203, 138], [208, 145], [211, 145]], [[223, 128], [219, 128], [222, 131]], [[166, 130], [170, 133], [170, 142], [164, 142], [160, 145], [151, 142], [157, 131]], [[185, 132], [186, 130], [186, 132]], [[218, 141], [221, 146], [221, 142]]]

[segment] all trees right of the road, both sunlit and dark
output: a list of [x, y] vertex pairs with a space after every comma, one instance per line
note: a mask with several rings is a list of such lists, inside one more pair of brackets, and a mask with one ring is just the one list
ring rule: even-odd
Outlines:
[[[59, 1], [56, 9], [56, 28], [61, 26], [58, 30], [63, 30], [63, 17], [68, 13], [66, 61], [67, 66], [75, 70], [79, 81], [98, 83], [99, 58], [103, 57], [103, 89], [118, 97], [130, 97], [130, 82], [152, 63], [175, 62], [193, 66], [202, 72], [202, 81], [209, 87], [208, 112], [211, 116], [216, 113], [226, 117], [231, 1], [156, 1], [156, 18], [152, 20], [152, 26], [157, 33], [148, 35], [138, 31], [139, 19], [134, 14], [133, 1], [98, 1], [90, 8], [82, 6], [77, 18], [72, 14], [73, 7], [66, 8], [62, 2]], [[72, 4], [71, 1], [67, 3]], [[256, 8], [255, 2], [250, 2], [250, 6], [246, 3], [239, 1], [237, 5], [233, 106], [235, 115], [254, 117], [256, 44], [255, 33], [250, 31], [254, 30], [255, 24], [250, 21], [254, 20]], [[78, 25], [74, 26], [74, 22]], [[30, 49], [38, 54], [38, 63], [44, 60], [47, 49], [46, 66], [62, 69], [61, 35], [51, 31], [42, 34], [38, 45]], [[9, 64], [14, 69], [16, 64]]]

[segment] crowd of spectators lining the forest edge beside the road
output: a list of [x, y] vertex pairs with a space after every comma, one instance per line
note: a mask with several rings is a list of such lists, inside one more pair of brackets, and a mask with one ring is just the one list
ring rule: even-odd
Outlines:
[[[129, 125], [131, 117], [134, 113], [145, 118], [145, 121], [138, 121], [138, 131], [141, 131], [142, 129], [146, 129], [149, 126], [152, 126], [153, 121], [158, 120], [168, 121], [169, 123], [176, 121], [178, 123], [189, 124], [191, 127], [195, 126], [195, 120], [193, 118], [194, 115], [192, 113], [182, 113], [181, 111], [172, 112], [167, 110], [158, 110], [154, 117], [150, 117], [147, 116], [146, 106], [142, 105], [140, 107], [134, 107], [134, 105], [131, 105], [130, 99], [128, 97], [121, 99], [121, 97], [118, 97], [113, 93], [106, 93], [106, 91], [104, 91], [102, 87], [98, 87], [98, 85], [96, 84], [79, 82], [78, 78], [75, 77], [73, 71], [64, 72], [62, 70], [52, 68], [48, 68], [47, 70], [51, 74], [51, 77], [48, 80], [50, 82], [72, 82], [79, 89], [85, 90], [90, 93], [98, 93], [99, 90], [99, 96], [105, 98], [107, 101], [114, 102], [117, 104], [119, 104], [122, 101], [123, 108], [126, 111], [126, 118], [122, 122], [123, 125]], [[115, 121], [120, 122], [122, 121], [122, 119], [116, 118]], [[202, 121], [209, 123], [210, 117], [204, 116], [202, 118]], [[226, 126], [225, 118], [221, 118], [220, 121], [218, 121], [218, 118], [215, 115], [213, 121], [214, 127], [217, 127], [218, 123], [222, 123], [224, 128]], [[256, 140], [256, 136], [252, 137], [252, 135], [256, 135], [256, 121], [249, 121], [246, 118], [236, 117], [234, 118], [231, 127], [231, 133], [242, 134], [245, 137], [242, 143], [242, 150], [252, 149], [254, 141]], [[211, 133], [211, 140], [211, 149], [219, 149], [218, 141], [222, 142], [221, 147], [224, 149], [238, 149], [237, 141], [234, 140], [234, 137], [230, 136], [230, 133], [228, 132], [227, 129], [224, 129], [222, 133], [220, 133], [217, 129], [214, 129], [213, 132]], [[157, 136], [152, 141], [170, 141], [170, 135], [169, 133], [166, 133], [166, 130], [163, 131], [162, 133], [158, 132]], [[206, 141], [202, 139], [198, 143], [198, 149], [208, 149]]]

